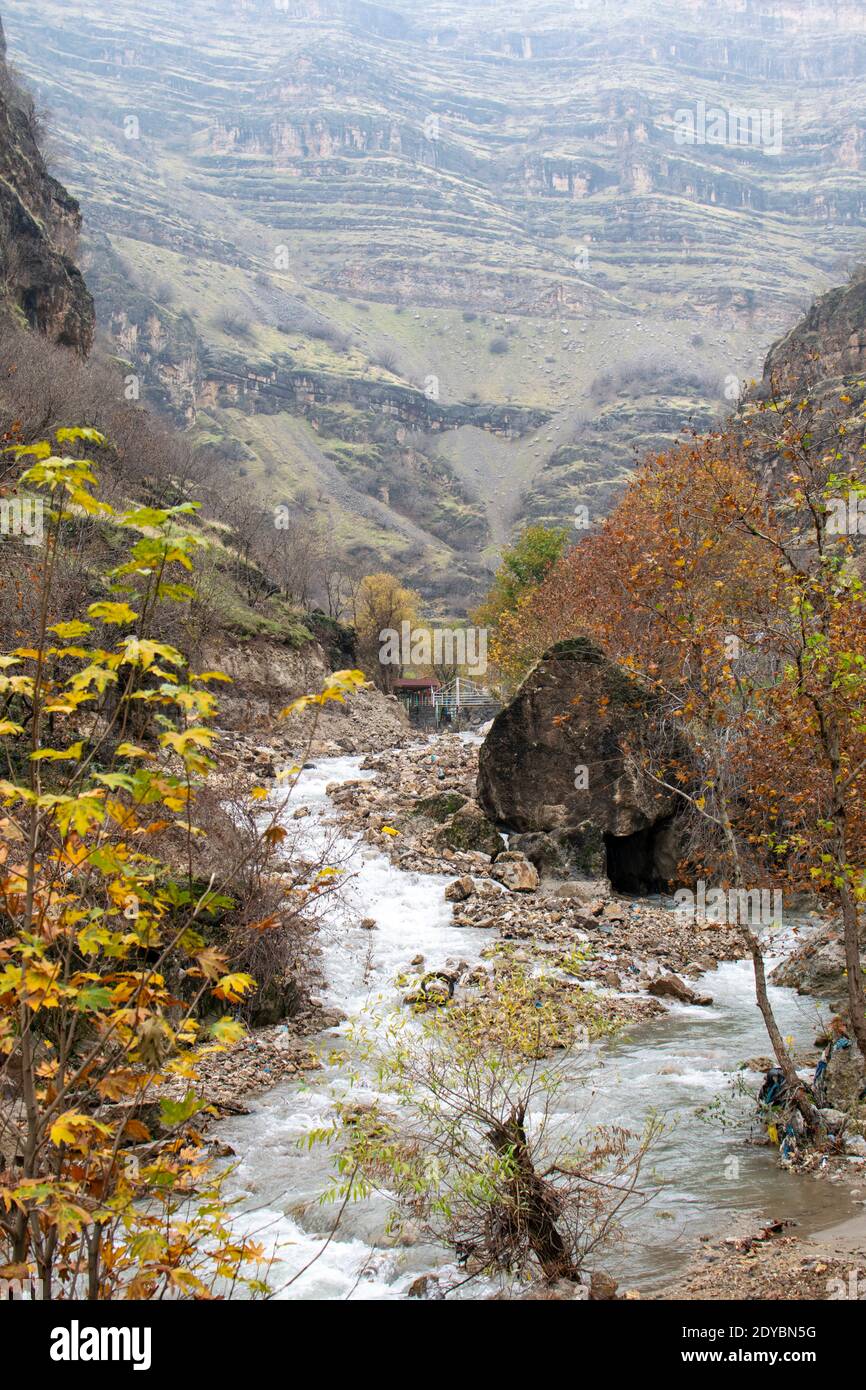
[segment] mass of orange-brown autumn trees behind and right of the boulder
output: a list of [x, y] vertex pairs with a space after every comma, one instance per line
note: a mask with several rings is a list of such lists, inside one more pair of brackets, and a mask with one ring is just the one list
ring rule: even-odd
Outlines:
[[[762, 873], [840, 908], [866, 1056], [866, 606], [856, 542], [830, 524], [866, 485], [833, 407], [770, 396], [745, 430], [646, 460], [613, 514], [503, 621], [495, 659], [524, 671], [587, 634], [652, 685], [689, 745], [676, 790], [698, 859], [737, 887]], [[783, 470], [771, 485], [758, 466], [767, 456]], [[794, 1081], [756, 940], [749, 951]]]

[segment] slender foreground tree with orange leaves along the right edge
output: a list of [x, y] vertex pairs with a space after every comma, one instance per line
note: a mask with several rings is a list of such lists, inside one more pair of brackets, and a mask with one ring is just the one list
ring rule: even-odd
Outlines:
[[851, 1029], [866, 1059], [866, 591], [858, 541], [866, 474], [862, 448], [849, 445], [863, 434], [865, 385], [820, 398], [773, 384], [749, 407], [744, 448], [770, 452], [780, 477], [765, 517], [737, 509], [737, 524], [774, 566], [778, 589], [762, 637], [780, 673], [753, 745], [753, 835], [792, 885], [838, 905]]

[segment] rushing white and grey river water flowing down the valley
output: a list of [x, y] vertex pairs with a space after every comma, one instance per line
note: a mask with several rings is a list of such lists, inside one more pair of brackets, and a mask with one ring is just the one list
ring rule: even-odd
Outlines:
[[[303, 827], [313, 842], [321, 842], [320, 819], [332, 812], [325, 787], [368, 776], [360, 762], [322, 759], [303, 773], [295, 802], [311, 810]], [[475, 963], [493, 937], [452, 926], [443, 898], [448, 877], [405, 873], [361, 840], [353, 842], [350, 873], [345, 902], [320, 935], [328, 1002], [349, 1017], [370, 1005], [398, 1006], [400, 991], [393, 981], [414, 955], [424, 955], [427, 969], [449, 956]], [[377, 920], [375, 931], [359, 926], [366, 916]], [[794, 1219], [805, 1230], [851, 1213], [849, 1198], [837, 1187], [790, 1176], [766, 1148], [745, 1144], [742, 1106], [737, 1111], [741, 1123], [730, 1129], [698, 1116], [702, 1106], [730, 1091], [745, 1059], [767, 1054], [748, 962], [721, 965], [699, 988], [713, 995], [710, 1008], [673, 1005], [666, 1017], [632, 1029], [627, 1038], [564, 1062], [573, 1084], [557, 1093], [556, 1123], [581, 1131], [588, 1123], [639, 1130], [651, 1112], [666, 1123], [652, 1161], [660, 1191], [628, 1218], [626, 1241], [601, 1261], [624, 1287], [646, 1291], [670, 1283], [699, 1234], [726, 1232], [752, 1212], [762, 1219]], [[783, 1033], [798, 1045], [810, 1044], [815, 1004], [790, 990], [771, 994]], [[270, 1282], [286, 1298], [399, 1298], [418, 1273], [448, 1264], [446, 1252], [435, 1247], [389, 1244], [384, 1236], [388, 1208], [379, 1198], [350, 1204], [325, 1244], [336, 1215], [334, 1205], [320, 1202], [331, 1156], [324, 1145], [309, 1148], [302, 1141], [329, 1123], [335, 1090], [341, 1098], [370, 1094], [352, 1091], [345, 1068], [329, 1061], [345, 1044], [345, 1029], [320, 1037], [322, 1070], [307, 1073], [304, 1083], [275, 1086], [253, 1102], [250, 1115], [220, 1127], [221, 1138], [238, 1154], [232, 1183], [243, 1200], [243, 1223], [268, 1247], [278, 1243]], [[470, 1286], [470, 1295], [480, 1295], [477, 1286]]]

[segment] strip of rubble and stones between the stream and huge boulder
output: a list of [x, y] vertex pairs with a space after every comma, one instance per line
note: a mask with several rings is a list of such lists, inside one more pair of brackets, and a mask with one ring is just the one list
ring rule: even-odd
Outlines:
[[605, 881], [546, 878], [523, 853], [503, 856], [503, 837], [474, 799], [474, 741], [445, 734], [370, 755], [361, 769], [373, 778], [332, 788], [343, 830], [400, 870], [452, 876], [445, 897], [456, 927], [492, 931], [552, 969], [578, 948], [581, 984], [616, 1001], [624, 1019], [664, 1013], [662, 999], [712, 1004], [687, 981], [744, 955], [734, 929], [695, 930], [656, 901], [619, 897]]

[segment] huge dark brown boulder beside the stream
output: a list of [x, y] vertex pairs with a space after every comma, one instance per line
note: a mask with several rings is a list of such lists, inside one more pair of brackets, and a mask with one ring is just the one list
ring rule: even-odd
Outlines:
[[[478, 802], [521, 837], [555, 835], [577, 876], [642, 892], [676, 874], [681, 799], [655, 777], [685, 764], [655, 696], [587, 638], [559, 642], [493, 720]], [[539, 848], [539, 847], [538, 847]], [[532, 856], [535, 858], [535, 855]], [[544, 869], [542, 869], [544, 872]]]

